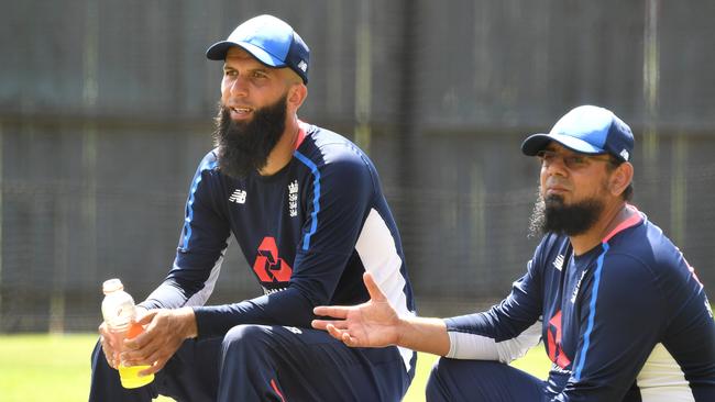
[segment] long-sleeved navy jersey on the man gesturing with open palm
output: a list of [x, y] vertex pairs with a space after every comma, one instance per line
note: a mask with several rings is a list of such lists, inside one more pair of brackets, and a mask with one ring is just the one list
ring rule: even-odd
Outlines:
[[566, 236], [544, 236], [501, 304], [446, 320], [451, 357], [474, 358], [487, 343], [505, 345], [501, 357], [540, 317], [554, 401], [715, 401], [705, 291], [641, 213], [580, 256]]

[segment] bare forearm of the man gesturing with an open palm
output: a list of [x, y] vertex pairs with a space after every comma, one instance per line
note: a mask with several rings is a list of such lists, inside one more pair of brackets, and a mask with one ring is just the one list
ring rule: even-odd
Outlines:
[[397, 346], [444, 356], [450, 350], [447, 325], [441, 319], [416, 316], [400, 319]]

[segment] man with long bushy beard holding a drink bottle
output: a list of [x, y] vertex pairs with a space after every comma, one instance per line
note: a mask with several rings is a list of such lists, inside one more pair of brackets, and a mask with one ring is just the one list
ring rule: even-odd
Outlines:
[[[344, 137], [298, 120], [309, 51], [285, 22], [251, 19], [207, 56], [223, 62], [217, 148], [191, 181], [174, 267], [140, 304], [146, 331], [117, 345], [100, 326], [90, 400], [399, 401], [414, 351], [352, 349], [310, 327], [316, 305], [369, 300], [365, 271], [414, 315], [375, 167]], [[207, 306], [231, 234], [264, 294]], [[120, 361], [150, 365], [155, 381], [121, 388]]]

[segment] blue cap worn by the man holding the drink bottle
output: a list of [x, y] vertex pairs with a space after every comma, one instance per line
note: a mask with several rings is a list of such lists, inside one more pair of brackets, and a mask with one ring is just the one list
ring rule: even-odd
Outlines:
[[308, 83], [310, 49], [290, 25], [273, 15], [245, 21], [226, 41], [211, 45], [206, 57], [224, 60], [231, 46], [242, 47], [268, 67], [288, 67]]

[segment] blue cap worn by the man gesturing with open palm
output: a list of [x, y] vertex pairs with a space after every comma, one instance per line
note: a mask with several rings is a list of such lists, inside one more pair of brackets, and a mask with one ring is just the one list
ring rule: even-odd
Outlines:
[[572, 109], [553, 125], [549, 134], [534, 134], [521, 144], [521, 152], [535, 156], [556, 141], [564, 147], [582, 154], [610, 154], [628, 161], [632, 156], [634, 135], [628, 124], [612, 111], [582, 105]]

